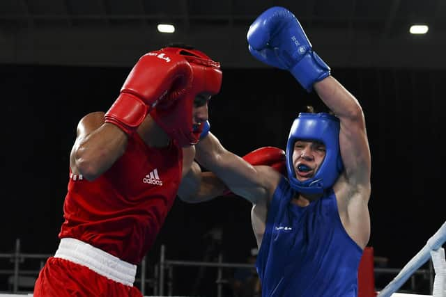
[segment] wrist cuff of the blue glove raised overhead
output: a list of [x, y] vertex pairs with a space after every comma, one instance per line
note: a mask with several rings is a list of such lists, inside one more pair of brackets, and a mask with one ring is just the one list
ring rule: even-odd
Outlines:
[[330, 67], [314, 51], [309, 51], [290, 72], [307, 92], [311, 92], [314, 83], [330, 76]]

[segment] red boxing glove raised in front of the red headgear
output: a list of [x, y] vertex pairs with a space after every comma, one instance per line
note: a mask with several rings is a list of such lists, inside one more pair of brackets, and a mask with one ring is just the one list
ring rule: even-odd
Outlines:
[[142, 56], [105, 113], [105, 122], [132, 134], [160, 101], [175, 100], [192, 83], [192, 66], [179, 54], [151, 51]]

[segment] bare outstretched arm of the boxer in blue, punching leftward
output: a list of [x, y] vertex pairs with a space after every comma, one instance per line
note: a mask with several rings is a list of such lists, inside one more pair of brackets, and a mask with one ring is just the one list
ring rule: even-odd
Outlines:
[[195, 159], [221, 179], [233, 193], [254, 204], [272, 197], [281, 178], [272, 167], [252, 166], [240, 156], [226, 150], [212, 133], [195, 147]]

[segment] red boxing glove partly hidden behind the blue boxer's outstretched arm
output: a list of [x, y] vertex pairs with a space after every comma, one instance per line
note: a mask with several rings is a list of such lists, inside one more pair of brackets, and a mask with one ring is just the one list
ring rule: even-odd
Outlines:
[[[245, 154], [243, 160], [252, 166], [270, 166], [280, 174], [286, 175], [286, 154], [279, 147], [260, 147], [257, 150]], [[228, 189], [224, 191], [223, 195], [233, 195], [233, 193]]]

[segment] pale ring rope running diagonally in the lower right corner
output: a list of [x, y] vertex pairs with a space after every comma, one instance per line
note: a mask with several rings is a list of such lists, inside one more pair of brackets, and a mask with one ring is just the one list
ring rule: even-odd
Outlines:
[[377, 297], [389, 297], [397, 291], [410, 278], [418, 268], [431, 258], [431, 251], [439, 250], [446, 241], [446, 222], [438, 229], [438, 231], [428, 239], [426, 245], [420, 252], [413, 257], [406, 266], [401, 269], [400, 273], [387, 286], [379, 292]]

